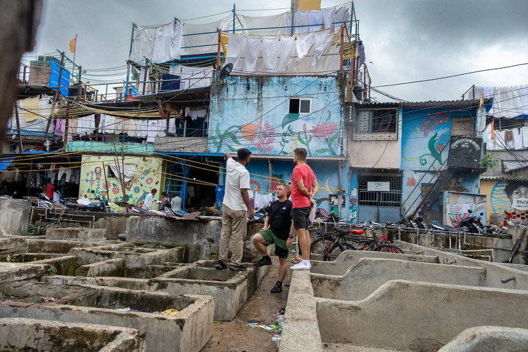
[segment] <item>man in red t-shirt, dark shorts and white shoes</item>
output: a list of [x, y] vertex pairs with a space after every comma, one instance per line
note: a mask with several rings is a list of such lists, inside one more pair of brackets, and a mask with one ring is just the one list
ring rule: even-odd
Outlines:
[[300, 263], [293, 265], [293, 270], [309, 270], [310, 264], [310, 208], [315, 206], [314, 197], [319, 190], [314, 170], [306, 164], [305, 148], [294, 150], [294, 172], [292, 173], [292, 219], [301, 251]]

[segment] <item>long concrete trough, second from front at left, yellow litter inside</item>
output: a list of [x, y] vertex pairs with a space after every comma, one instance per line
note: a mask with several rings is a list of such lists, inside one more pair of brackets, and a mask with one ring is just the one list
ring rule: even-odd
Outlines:
[[[0, 292], [5, 296], [55, 297], [48, 303], [28, 307], [0, 303], [0, 318], [33, 318], [61, 322], [83, 322], [112, 327], [126, 327], [146, 333], [147, 351], [200, 351], [212, 335], [214, 301], [210, 296], [170, 296], [164, 293], [137, 292], [113, 287], [75, 285], [48, 285], [25, 283], [4, 285]], [[138, 311], [118, 311], [115, 308], [131, 307]], [[142, 313], [177, 309], [173, 316]]]

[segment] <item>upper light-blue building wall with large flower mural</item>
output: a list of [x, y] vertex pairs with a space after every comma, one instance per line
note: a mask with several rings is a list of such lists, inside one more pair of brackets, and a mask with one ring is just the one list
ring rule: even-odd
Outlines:
[[[341, 76], [229, 76], [211, 86], [208, 148], [261, 155], [342, 155]], [[289, 98], [311, 98], [311, 113], [289, 113]]]

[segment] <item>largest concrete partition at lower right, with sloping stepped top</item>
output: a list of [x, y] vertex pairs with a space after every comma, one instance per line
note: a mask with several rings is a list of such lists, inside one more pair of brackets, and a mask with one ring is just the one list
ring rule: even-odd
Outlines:
[[508, 289], [389, 281], [356, 302], [317, 298], [317, 316], [323, 342], [420, 351], [479, 325], [526, 329], [519, 307], [527, 299]]

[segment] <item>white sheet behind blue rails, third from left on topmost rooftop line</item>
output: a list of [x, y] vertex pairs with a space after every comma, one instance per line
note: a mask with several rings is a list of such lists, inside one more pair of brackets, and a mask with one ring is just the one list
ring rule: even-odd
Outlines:
[[[204, 23], [201, 25], [192, 25], [184, 23], [184, 42], [187, 54], [206, 54], [210, 52], [217, 52], [218, 49], [218, 34], [217, 30], [227, 29], [227, 24], [222, 21], [211, 23]], [[208, 33], [208, 34], [197, 34]], [[195, 34], [195, 35], [188, 35]], [[201, 46], [205, 45], [205, 46]]]

